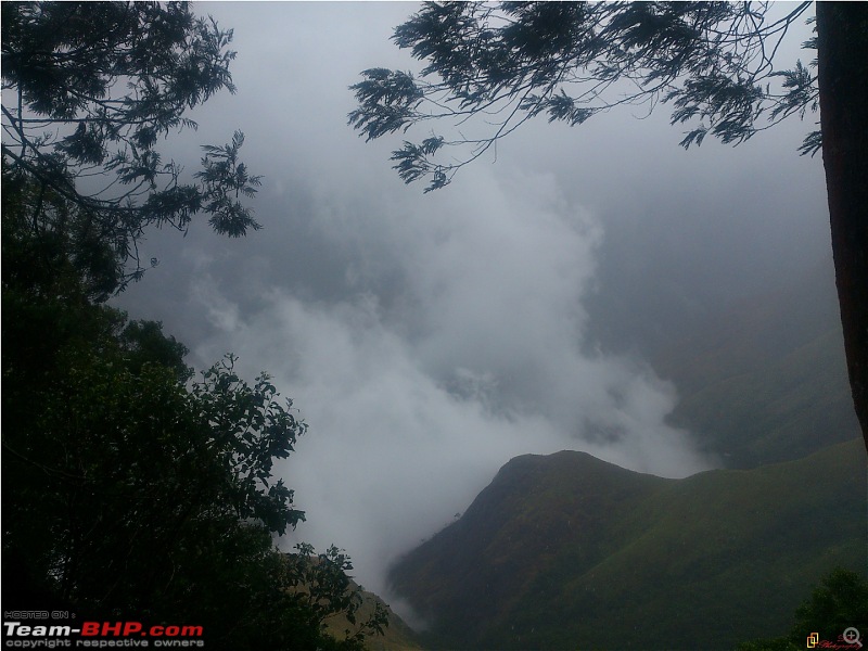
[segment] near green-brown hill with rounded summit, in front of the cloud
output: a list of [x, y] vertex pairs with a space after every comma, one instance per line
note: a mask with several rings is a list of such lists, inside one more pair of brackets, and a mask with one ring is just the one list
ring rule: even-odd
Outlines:
[[860, 439], [684, 480], [523, 456], [391, 579], [433, 648], [731, 649], [865, 571], [867, 492]]

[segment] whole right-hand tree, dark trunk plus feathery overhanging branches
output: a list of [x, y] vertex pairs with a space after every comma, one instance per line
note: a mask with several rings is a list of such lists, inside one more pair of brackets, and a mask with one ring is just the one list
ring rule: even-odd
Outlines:
[[868, 5], [817, 3], [817, 36], [803, 43], [817, 61], [776, 68], [810, 5], [773, 17], [775, 3], [427, 2], [393, 36], [426, 63], [421, 76], [363, 71], [350, 87], [358, 107], [349, 124], [367, 140], [427, 123], [448, 129], [392, 153], [399, 176], [429, 179], [427, 192], [537, 116], [577, 126], [623, 104], [650, 112], [669, 103], [671, 123], [689, 125], [680, 141], [689, 148], [710, 135], [739, 144], [819, 110], [820, 128], [800, 151], [822, 149], [847, 367], [868, 447]]

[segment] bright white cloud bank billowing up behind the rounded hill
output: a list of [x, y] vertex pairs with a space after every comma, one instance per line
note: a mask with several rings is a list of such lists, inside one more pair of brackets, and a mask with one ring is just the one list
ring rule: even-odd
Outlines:
[[189, 308], [210, 327], [197, 366], [237, 353], [310, 425], [280, 468], [309, 515], [284, 542], [346, 548], [381, 593], [390, 563], [516, 455], [580, 449], [664, 476], [713, 463], [665, 424], [668, 384], [636, 361], [582, 352], [599, 222], [551, 176], [473, 174], [411, 215], [396, 204], [374, 218], [330, 210], [333, 199], [319, 197], [318, 242], [342, 269], [339, 294], [261, 283], [242, 305], [207, 256], [191, 285]]

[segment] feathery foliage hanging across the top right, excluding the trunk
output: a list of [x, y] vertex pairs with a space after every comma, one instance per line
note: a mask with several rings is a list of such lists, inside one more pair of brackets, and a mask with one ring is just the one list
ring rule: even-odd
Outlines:
[[[449, 129], [392, 154], [406, 182], [430, 179], [426, 192], [537, 116], [575, 126], [662, 102], [672, 124], [690, 125], [685, 148], [709, 135], [743, 142], [817, 110], [814, 65], [773, 64], [809, 4], [771, 18], [769, 3], [752, 2], [426, 2], [393, 36], [425, 62], [420, 77], [362, 72], [349, 124], [368, 140], [429, 122]], [[802, 152], [819, 145], [814, 131]], [[445, 148], [461, 153], [443, 162], [434, 154]]]

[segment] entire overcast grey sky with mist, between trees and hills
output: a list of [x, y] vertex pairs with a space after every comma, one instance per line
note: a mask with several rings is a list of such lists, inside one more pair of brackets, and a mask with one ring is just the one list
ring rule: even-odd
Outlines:
[[149, 233], [143, 259], [159, 265], [116, 301], [163, 321], [200, 370], [232, 352], [248, 380], [272, 375], [309, 425], [277, 467], [307, 512], [281, 547], [346, 549], [405, 615], [388, 566], [512, 457], [578, 449], [671, 477], [719, 467], [666, 424], [678, 396], [647, 352], [831, 265], [821, 161], [795, 151], [809, 118], [688, 152], [665, 106], [541, 120], [444, 190], [405, 186], [398, 138], [347, 127], [347, 87], [369, 67], [419, 69], [390, 41], [414, 7], [195, 3], [234, 29], [238, 92], [166, 151], [194, 169], [200, 144], [244, 131], [264, 229]]

